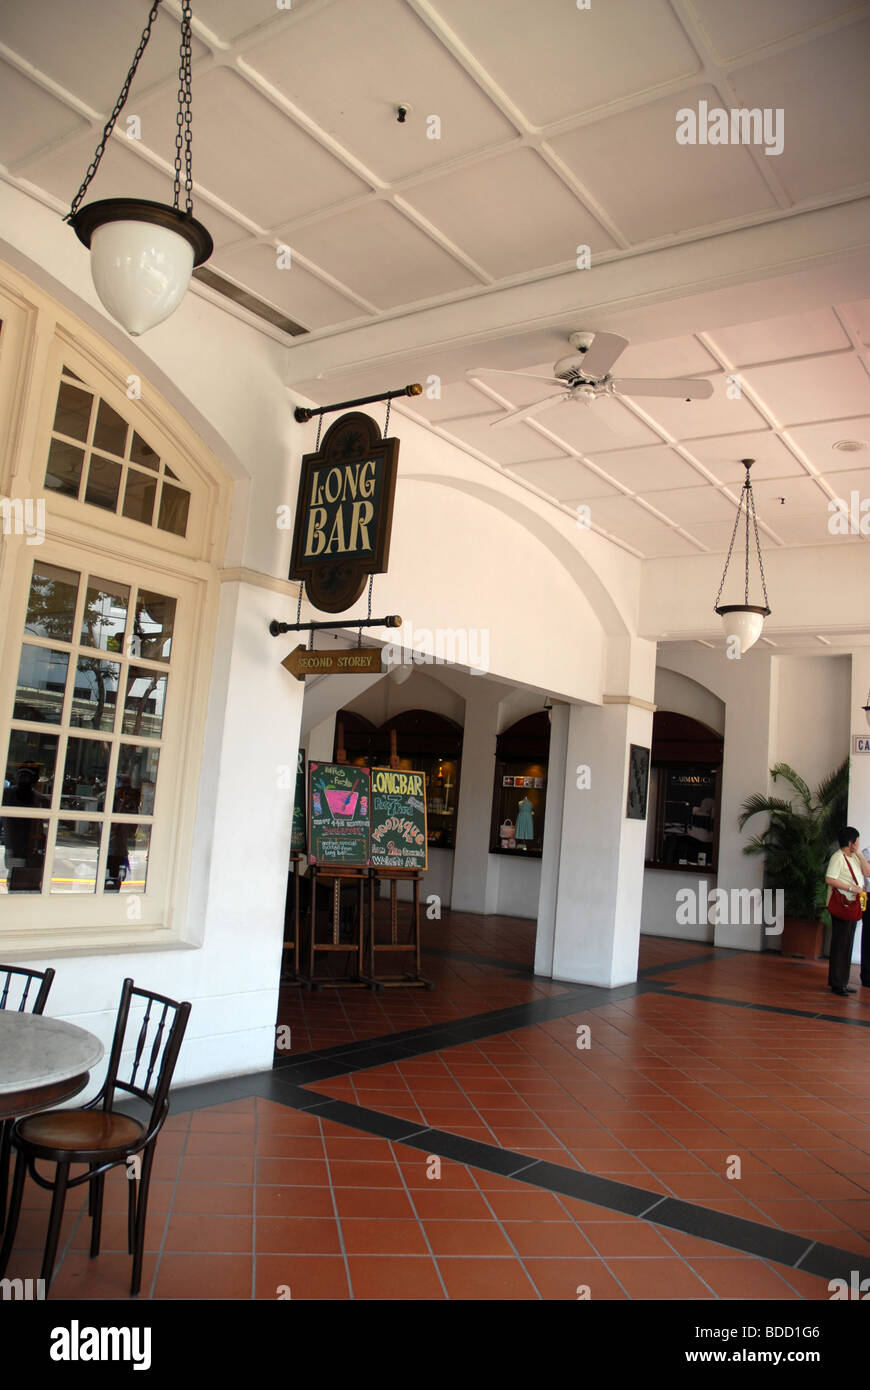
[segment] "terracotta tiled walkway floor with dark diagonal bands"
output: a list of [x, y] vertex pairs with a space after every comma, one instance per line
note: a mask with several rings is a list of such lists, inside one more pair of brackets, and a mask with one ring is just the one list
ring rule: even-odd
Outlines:
[[[275, 1070], [177, 1093], [145, 1297], [827, 1300], [870, 1275], [867, 991], [655, 938], [599, 991], [534, 980], [528, 923], [427, 940], [432, 992], [288, 987]], [[96, 1261], [68, 1212], [51, 1298], [126, 1295], [125, 1195], [113, 1175]], [[26, 1202], [10, 1276], [38, 1273]]]

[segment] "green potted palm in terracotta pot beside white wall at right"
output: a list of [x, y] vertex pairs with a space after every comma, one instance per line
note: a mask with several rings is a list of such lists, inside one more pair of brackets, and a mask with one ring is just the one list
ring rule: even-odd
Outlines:
[[764, 855], [764, 885], [784, 894], [782, 954], [817, 960], [824, 941], [824, 870], [848, 816], [849, 760], [813, 794], [788, 763], [770, 769], [774, 783], [788, 783], [791, 796], [749, 796], [738, 821], [767, 816], [767, 828], [744, 845], [745, 855]]

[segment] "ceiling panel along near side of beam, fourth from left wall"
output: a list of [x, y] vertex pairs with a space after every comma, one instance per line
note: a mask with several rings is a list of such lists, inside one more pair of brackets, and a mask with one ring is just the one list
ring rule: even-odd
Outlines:
[[549, 143], [632, 242], [775, 207], [748, 150], [677, 143], [677, 111], [700, 100], [723, 106], [714, 88], [689, 88]]

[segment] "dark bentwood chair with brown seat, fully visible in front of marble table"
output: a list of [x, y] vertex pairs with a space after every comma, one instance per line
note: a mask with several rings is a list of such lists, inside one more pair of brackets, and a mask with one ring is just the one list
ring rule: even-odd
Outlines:
[[[131, 1022], [131, 1006], [145, 1002], [145, 1015], [136, 1029]], [[15, 1175], [7, 1220], [7, 1232], [0, 1250], [0, 1279], [6, 1273], [15, 1238], [25, 1173], [50, 1191], [51, 1215], [42, 1262], [46, 1289], [51, 1283], [57, 1241], [64, 1218], [67, 1188], [88, 1183], [88, 1211], [90, 1215], [90, 1258], [100, 1254], [103, 1222], [103, 1187], [111, 1168], [125, 1165], [128, 1172], [126, 1243], [133, 1257], [131, 1295], [142, 1284], [142, 1254], [147, 1195], [154, 1162], [154, 1141], [170, 1113], [170, 1084], [181, 1051], [190, 1013], [189, 1004], [178, 1004], [163, 994], [138, 990], [132, 980], [121, 988], [121, 1005], [108, 1056], [106, 1080], [92, 1101], [81, 1109], [43, 1111], [17, 1120], [13, 1127], [13, 1148], [17, 1151]], [[132, 1045], [129, 1077], [120, 1079], [121, 1055], [128, 1034]], [[129, 1051], [129, 1048], [128, 1048]], [[125, 1069], [126, 1074], [126, 1069]], [[115, 1091], [136, 1097], [149, 1105], [149, 1116], [140, 1122], [114, 1109]], [[131, 1159], [138, 1159], [131, 1166]], [[38, 1162], [56, 1163], [54, 1182], [36, 1172]], [[88, 1163], [88, 1172], [69, 1177], [71, 1163]]]

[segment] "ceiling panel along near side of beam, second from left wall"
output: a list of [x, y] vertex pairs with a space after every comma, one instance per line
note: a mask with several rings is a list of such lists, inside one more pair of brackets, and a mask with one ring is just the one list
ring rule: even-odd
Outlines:
[[386, 203], [370, 203], [311, 222], [293, 232], [289, 242], [379, 309], [479, 284], [453, 256]]

